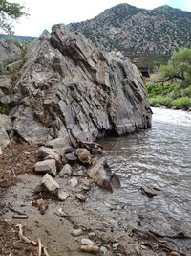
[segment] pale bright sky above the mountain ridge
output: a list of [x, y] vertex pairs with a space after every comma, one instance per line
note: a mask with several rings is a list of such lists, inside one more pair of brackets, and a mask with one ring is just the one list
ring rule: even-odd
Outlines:
[[14, 22], [14, 35], [39, 36], [53, 24], [83, 21], [117, 4], [153, 9], [162, 5], [191, 12], [191, 0], [8, 0], [24, 5], [29, 16]]

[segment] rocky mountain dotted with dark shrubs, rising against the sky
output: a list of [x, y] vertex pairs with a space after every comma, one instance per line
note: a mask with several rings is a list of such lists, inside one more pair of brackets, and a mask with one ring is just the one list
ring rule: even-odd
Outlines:
[[69, 24], [102, 50], [170, 54], [180, 47], [191, 47], [191, 12], [167, 5], [153, 10], [119, 4], [95, 18]]

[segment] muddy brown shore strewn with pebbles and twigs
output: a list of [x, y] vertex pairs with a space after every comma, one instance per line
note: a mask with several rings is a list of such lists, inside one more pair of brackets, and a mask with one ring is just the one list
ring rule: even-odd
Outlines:
[[[31, 172], [36, 148], [26, 147], [31, 146], [11, 145], [0, 156], [1, 163], [4, 163], [1, 165], [1, 190], [4, 193], [1, 194], [3, 197], [0, 208], [0, 255], [10, 253], [38, 255], [36, 247], [19, 241], [16, 227], [18, 223], [26, 225], [24, 229], [26, 236], [34, 241], [40, 238], [42, 244], [47, 247], [49, 255], [92, 255], [79, 250], [82, 238], [90, 239], [100, 248], [96, 255], [180, 255], [169, 254], [172, 253], [173, 248], [169, 250], [169, 247], [159, 246], [158, 238], [148, 233], [135, 232], [135, 229], [128, 223], [120, 221], [120, 215], [116, 215], [115, 209], [108, 207], [107, 202], [100, 201], [100, 204], [95, 204], [92, 201], [95, 192], [101, 195], [110, 192], [98, 187], [86, 175], [74, 176], [78, 180], [76, 187], [69, 185], [71, 177], [56, 177], [55, 180], [69, 194], [69, 197], [65, 201], [59, 201], [54, 197], [44, 197], [48, 209], [44, 215], [41, 215], [39, 210], [32, 205], [34, 187], [41, 178], [41, 175]], [[14, 158], [13, 152], [18, 152], [18, 150], [20, 155]], [[6, 161], [7, 157], [14, 160], [14, 166], [17, 166], [13, 173], [9, 172], [11, 166], [9, 161]], [[23, 168], [24, 166], [27, 167]], [[19, 175], [19, 173], [22, 174]], [[3, 184], [7, 185], [3, 188]], [[78, 194], [84, 195], [84, 201], [77, 197]], [[60, 214], [60, 209], [62, 209], [62, 214]], [[17, 212], [26, 215], [27, 219], [14, 218]], [[10, 220], [12, 224], [5, 223], [5, 219]], [[72, 233], [75, 229], [81, 229], [81, 235], [74, 236]], [[5, 241], [7, 241], [6, 244]]]

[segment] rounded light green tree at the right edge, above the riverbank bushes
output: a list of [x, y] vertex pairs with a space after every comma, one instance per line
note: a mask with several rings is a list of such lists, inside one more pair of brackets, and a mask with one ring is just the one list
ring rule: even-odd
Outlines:
[[159, 67], [159, 81], [172, 79], [183, 82], [191, 80], [191, 49], [180, 48], [178, 52], [173, 53], [167, 65]]

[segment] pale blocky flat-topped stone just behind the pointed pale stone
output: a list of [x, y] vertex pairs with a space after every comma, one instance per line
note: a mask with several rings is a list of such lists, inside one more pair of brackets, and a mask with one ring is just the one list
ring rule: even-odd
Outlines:
[[49, 175], [56, 175], [56, 166], [54, 159], [47, 159], [44, 161], [40, 161], [35, 163], [34, 171], [36, 173], [48, 173]]

